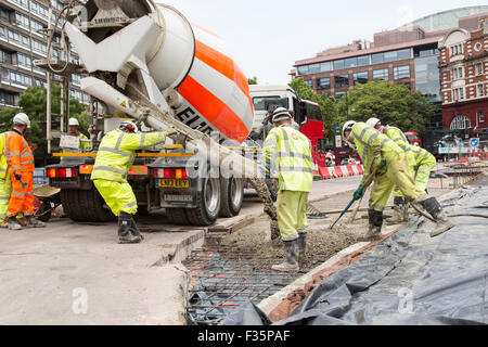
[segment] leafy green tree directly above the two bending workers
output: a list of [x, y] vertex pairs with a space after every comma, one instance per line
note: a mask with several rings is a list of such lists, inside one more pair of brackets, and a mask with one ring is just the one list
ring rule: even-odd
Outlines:
[[337, 103], [338, 120], [365, 121], [376, 117], [383, 124], [403, 131], [422, 132], [434, 116], [437, 105], [420, 91], [386, 80], [373, 80], [349, 90]]

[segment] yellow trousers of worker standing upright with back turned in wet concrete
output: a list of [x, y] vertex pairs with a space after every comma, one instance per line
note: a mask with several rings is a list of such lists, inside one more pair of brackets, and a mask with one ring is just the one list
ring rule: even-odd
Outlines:
[[283, 241], [307, 233], [308, 192], [280, 191], [277, 198], [278, 227]]

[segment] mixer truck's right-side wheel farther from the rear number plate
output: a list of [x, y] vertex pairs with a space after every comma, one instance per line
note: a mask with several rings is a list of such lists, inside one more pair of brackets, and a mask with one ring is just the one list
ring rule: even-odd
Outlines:
[[220, 217], [237, 216], [244, 201], [243, 180], [231, 177], [220, 179]]

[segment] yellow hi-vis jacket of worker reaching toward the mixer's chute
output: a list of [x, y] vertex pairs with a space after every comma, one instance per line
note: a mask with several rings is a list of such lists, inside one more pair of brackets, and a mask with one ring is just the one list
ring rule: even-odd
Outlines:
[[100, 143], [91, 180], [106, 180], [119, 183], [127, 182], [136, 157], [136, 150], [142, 150], [166, 141], [163, 131], [151, 133], [127, 133], [113, 130], [106, 133]]

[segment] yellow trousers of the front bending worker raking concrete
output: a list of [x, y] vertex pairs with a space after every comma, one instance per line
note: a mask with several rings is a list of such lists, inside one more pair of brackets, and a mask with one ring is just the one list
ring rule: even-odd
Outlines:
[[374, 183], [370, 194], [370, 208], [383, 211], [395, 185], [398, 187], [408, 201], [422, 201], [428, 197], [425, 190], [421, 190], [415, 184], [407, 156], [395, 153], [386, 157], [386, 166], [378, 169], [374, 176]]

